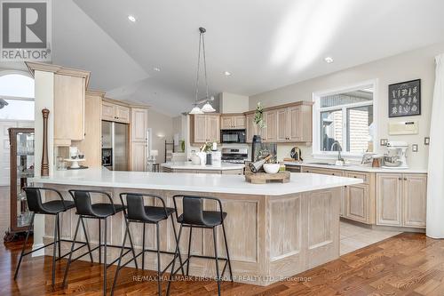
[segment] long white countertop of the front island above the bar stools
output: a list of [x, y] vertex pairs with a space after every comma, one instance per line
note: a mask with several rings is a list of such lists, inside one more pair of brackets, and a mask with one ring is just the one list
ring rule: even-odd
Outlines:
[[55, 171], [32, 181], [66, 186], [159, 189], [204, 193], [283, 196], [362, 183], [361, 179], [291, 173], [288, 183], [250, 184], [242, 175], [186, 172], [116, 172], [106, 169]]

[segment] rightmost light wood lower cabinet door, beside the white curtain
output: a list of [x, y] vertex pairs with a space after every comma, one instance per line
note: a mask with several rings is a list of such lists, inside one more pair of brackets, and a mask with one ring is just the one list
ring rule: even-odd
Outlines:
[[402, 225], [424, 228], [427, 210], [427, 176], [404, 174], [402, 183]]

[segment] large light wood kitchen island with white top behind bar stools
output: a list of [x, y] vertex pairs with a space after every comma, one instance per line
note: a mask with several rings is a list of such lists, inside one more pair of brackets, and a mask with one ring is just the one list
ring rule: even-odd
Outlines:
[[[250, 284], [271, 284], [287, 276], [339, 257], [339, 207], [342, 187], [359, 184], [360, 179], [322, 176], [313, 173], [291, 173], [289, 183], [263, 185], [245, 182], [243, 176], [196, 173], [113, 172], [99, 169], [59, 171], [51, 177], [36, 177], [36, 186], [58, 189], [71, 199], [71, 188], [104, 190], [120, 204], [119, 193], [141, 192], [163, 196], [173, 206], [176, 194], [216, 196], [227, 212], [226, 235], [233, 266], [234, 281]], [[51, 200], [52, 196], [45, 196]], [[214, 204], [205, 204], [215, 209]], [[45, 220], [44, 239], [52, 239], [52, 217]], [[61, 235], [71, 238], [77, 221], [75, 211], [61, 215]], [[109, 243], [122, 244], [123, 214], [108, 220]], [[170, 223], [170, 221], [168, 221]], [[88, 220], [90, 242], [98, 242], [98, 224]], [[221, 229], [218, 229], [221, 231]], [[136, 248], [142, 241], [141, 226], [131, 226]], [[161, 223], [161, 249], [174, 252], [175, 241], [170, 225]], [[180, 252], [186, 256], [188, 229], [184, 228]], [[221, 234], [218, 250], [225, 256]], [[146, 246], [155, 247], [155, 228], [147, 227]], [[63, 245], [67, 250], [68, 244]], [[193, 231], [191, 250], [194, 254], [213, 255], [212, 236], [208, 229]], [[119, 250], [109, 250], [115, 258]], [[52, 251], [48, 250], [48, 254]], [[95, 252], [95, 260], [98, 260]], [[163, 255], [162, 266], [170, 261]], [[86, 258], [86, 257], [85, 257]], [[146, 267], [156, 268], [155, 254], [147, 253]], [[190, 275], [215, 276], [214, 261], [194, 258]]]

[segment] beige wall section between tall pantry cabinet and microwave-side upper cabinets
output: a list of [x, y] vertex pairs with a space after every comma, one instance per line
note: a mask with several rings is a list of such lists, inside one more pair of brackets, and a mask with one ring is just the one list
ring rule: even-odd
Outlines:
[[152, 149], [159, 151], [157, 163], [165, 162], [165, 140], [172, 141], [172, 117], [148, 109], [148, 128], [152, 131]]

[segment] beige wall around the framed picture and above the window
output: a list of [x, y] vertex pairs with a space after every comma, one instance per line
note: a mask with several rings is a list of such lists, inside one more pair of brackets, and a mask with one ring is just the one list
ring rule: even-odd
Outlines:
[[[444, 43], [434, 44], [412, 52], [405, 52], [383, 60], [376, 60], [348, 68], [326, 76], [320, 76], [297, 84], [290, 84], [279, 89], [250, 96], [250, 109], [255, 108], [258, 101], [264, 106], [280, 105], [297, 100], [312, 100], [313, 92], [328, 91], [339, 87], [359, 84], [363, 81], [377, 79], [377, 147], [376, 151], [384, 153], [385, 148], [379, 146], [379, 139], [406, 140], [408, 144], [418, 144], [418, 152], [408, 151], [408, 164], [412, 168], [426, 168], [428, 147], [424, 146], [424, 137], [429, 136], [432, 96], [434, 85], [434, 57], [444, 52]], [[387, 97], [388, 85], [421, 79], [422, 103], [421, 116], [388, 118]], [[405, 120], [419, 122], [419, 134], [407, 136], [389, 136], [388, 123]], [[278, 157], [289, 156], [294, 145], [279, 145]], [[312, 159], [311, 147], [301, 147], [305, 160]]]

